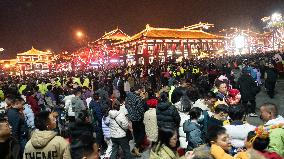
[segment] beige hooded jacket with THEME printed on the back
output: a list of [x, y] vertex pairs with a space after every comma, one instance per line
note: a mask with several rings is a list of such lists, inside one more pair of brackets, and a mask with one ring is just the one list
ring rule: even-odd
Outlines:
[[24, 159], [31, 158], [70, 159], [68, 142], [56, 136], [54, 131], [36, 130], [28, 141], [24, 151]]

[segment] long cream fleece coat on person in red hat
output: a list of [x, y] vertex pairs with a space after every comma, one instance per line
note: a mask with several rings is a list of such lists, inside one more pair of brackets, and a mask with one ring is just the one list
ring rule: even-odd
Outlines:
[[156, 142], [158, 140], [158, 125], [156, 108], [150, 108], [144, 114], [145, 131], [150, 141]]

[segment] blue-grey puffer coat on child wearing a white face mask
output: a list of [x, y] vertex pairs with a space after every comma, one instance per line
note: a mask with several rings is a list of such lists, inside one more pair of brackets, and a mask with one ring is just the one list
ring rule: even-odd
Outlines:
[[186, 133], [186, 141], [188, 142], [187, 149], [189, 151], [192, 151], [199, 145], [204, 144], [204, 135], [199, 124], [187, 120], [183, 124], [183, 130]]

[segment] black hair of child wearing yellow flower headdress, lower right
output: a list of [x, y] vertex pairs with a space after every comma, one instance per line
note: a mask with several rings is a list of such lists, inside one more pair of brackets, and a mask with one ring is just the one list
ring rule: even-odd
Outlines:
[[[256, 134], [255, 134], [254, 131], [250, 131], [248, 133], [248, 136], [247, 136], [247, 141], [250, 141], [253, 137], [255, 137], [255, 135]], [[256, 137], [254, 142], [252, 143], [252, 147], [255, 150], [263, 151], [263, 150], [265, 150], [268, 147], [269, 142], [270, 142], [269, 137], [267, 137], [267, 138]]]

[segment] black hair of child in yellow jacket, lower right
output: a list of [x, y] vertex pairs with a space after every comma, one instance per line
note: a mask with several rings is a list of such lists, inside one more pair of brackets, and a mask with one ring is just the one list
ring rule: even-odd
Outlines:
[[211, 141], [216, 141], [219, 135], [222, 135], [225, 133], [226, 133], [226, 128], [219, 126], [219, 125], [211, 126], [207, 132], [208, 144], [211, 145]]

